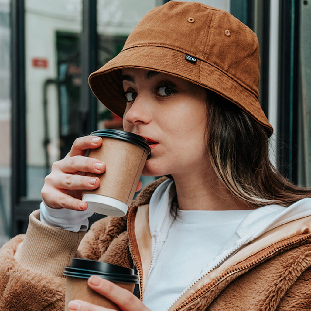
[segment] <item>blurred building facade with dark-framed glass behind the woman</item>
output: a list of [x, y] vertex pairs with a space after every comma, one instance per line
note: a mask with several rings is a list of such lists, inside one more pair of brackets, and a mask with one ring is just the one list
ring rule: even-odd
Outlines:
[[[87, 77], [164, 2], [0, 0], [0, 244], [25, 232], [45, 175], [76, 137], [120, 126]], [[260, 102], [275, 128], [272, 162], [294, 183], [311, 186], [311, 1], [201, 2], [231, 12], [258, 35]]]

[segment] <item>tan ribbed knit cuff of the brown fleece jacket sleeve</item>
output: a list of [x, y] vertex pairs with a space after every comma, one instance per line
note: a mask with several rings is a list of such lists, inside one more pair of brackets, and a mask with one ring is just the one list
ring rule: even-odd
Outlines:
[[63, 276], [77, 252], [86, 231], [72, 232], [40, 222], [40, 211], [29, 216], [24, 242], [14, 255], [25, 268], [54, 276]]

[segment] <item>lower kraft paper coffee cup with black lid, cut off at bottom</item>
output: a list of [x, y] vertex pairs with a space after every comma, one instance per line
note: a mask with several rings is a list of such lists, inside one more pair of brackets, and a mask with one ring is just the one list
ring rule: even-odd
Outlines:
[[131, 293], [134, 291], [135, 284], [138, 283], [138, 276], [134, 274], [133, 269], [80, 258], [72, 259], [70, 267], [65, 268], [64, 275], [66, 276], [65, 311], [68, 310], [69, 301], [75, 299], [120, 310], [116, 304], [87, 285], [87, 280], [92, 275], [112, 281]]

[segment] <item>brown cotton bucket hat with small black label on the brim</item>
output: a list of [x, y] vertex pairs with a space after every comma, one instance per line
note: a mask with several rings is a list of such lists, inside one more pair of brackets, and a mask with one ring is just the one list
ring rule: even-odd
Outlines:
[[202, 3], [169, 1], [147, 13], [122, 51], [93, 72], [96, 97], [123, 117], [121, 69], [146, 68], [186, 79], [238, 105], [269, 134], [273, 128], [258, 101], [259, 45], [234, 16]]

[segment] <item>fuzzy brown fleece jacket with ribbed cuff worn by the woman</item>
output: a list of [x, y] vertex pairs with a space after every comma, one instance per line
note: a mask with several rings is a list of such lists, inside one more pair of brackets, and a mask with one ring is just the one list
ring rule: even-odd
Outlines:
[[[147, 204], [160, 182], [148, 186], [132, 208]], [[63, 310], [62, 272], [76, 252], [78, 257], [132, 267], [126, 223], [127, 216], [106, 217], [82, 239], [81, 232], [42, 224], [39, 211], [33, 212], [26, 235], [16, 236], [0, 250], [0, 310]], [[194, 291], [176, 310], [311, 310], [311, 238], [304, 236], [295, 244], [271, 246], [245, 258], [227, 269], [225, 277]]]

